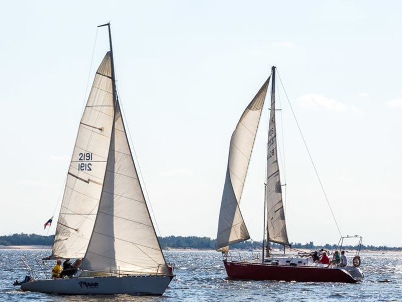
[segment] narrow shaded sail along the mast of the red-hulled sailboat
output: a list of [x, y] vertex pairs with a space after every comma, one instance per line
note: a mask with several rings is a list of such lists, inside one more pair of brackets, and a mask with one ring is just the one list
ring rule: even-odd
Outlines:
[[275, 67], [272, 67], [271, 113], [268, 128], [267, 152], [267, 229], [270, 242], [289, 245], [285, 224], [285, 212], [282, 202], [282, 186], [279, 178], [278, 153], [276, 148], [275, 125]]

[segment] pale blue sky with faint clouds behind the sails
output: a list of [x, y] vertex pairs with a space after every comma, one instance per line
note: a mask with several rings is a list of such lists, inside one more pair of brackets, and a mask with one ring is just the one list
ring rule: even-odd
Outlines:
[[[2, 1], [0, 235], [50, 235], [82, 109], [109, 50], [160, 236], [216, 238], [230, 137], [270, 74], [283, 83], [341, 234], [402, 246], [402, 3]], [[290, 242], [340, 234], [283, 90]], [[268, 104], [268, 103], [267, 103]], [[268, 107], [241, 200], [262, 239]], [[279, 131], [279, 130], [278, 130]]]

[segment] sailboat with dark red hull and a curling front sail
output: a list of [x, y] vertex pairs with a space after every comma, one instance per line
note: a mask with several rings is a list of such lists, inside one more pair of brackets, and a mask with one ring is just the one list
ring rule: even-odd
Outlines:
[[[263, 251], [262, 258], [251, 261], [231, 261], [228, 259], [229, 247], [235, 243], [250, 239], [240, 211], [240, 199], [270, 79], [272, 84], [265, 179], [266, 209], [263, 213], [264, 234], [265, 231], [267, 233], [267, 238], [264, 238], [267, 242], [267, 256], [264, 258]], [[266, 223], [265, 217], [267, 218]], [[341, 238], [342, 243], [343, 239]], [[227, 274], [235, 279], [350, 283], [363, 279], [363, 274], [358, 268], [360, 266], [360, 257], [358, 255], [360, 248], [354, 258], [354, 266], [344, 267], [316, 263], [312, 257], [271, 255], [269, 253], [270, 242], [283, 245], [283, 247], [290, 247], [282, 202], [276, 145], [275, 67], [272, 67], [270, 77], [247, 106], [232, 134], [219, 216], [217, 251], [221, 251], [224, 254], [224, 265]], [[359, 242], [360, 246], [361, 240]]]

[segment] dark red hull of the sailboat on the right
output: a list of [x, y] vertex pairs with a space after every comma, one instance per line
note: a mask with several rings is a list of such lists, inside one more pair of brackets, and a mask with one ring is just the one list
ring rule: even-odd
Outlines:
[[336, 268], [303, 267], [224, 261], [228, 277], [246, 280], [356, 283], [348, 273]]

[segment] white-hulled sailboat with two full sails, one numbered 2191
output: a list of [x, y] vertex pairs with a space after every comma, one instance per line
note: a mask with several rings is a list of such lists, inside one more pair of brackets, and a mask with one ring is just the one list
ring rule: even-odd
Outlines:
[[161, 295], [174, 277], [133, 161], [110, 51], [98, 67], [67, 175], [52, 254], [83, 258], [71, 278], [31, 279], [23, 291]]

